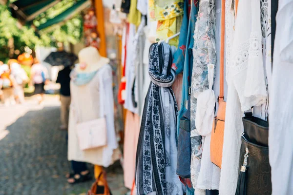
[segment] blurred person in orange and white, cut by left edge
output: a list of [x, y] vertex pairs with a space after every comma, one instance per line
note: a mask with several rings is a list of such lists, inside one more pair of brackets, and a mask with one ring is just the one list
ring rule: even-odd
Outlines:
[[7, 64], [0, 66], [0, 85], [5, 106], [15, 105], [16, 102], [13, 88], [16, 85], [16, 81], [13, 75], [11, 75], [9, 66]]

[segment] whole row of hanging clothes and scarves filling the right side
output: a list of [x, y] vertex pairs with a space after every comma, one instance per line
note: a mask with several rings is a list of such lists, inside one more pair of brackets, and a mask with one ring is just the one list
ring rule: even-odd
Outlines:
[[[239, 187], [254, 189], [245, 174], [266, 166], [259, 163], [244, 172], [239, 167], [246, 150], [241, 148], [242, 117], [252, 108], [260, 121], [267, 123], [270, 116], [270, 135], [286, 134], [269, 137], [272, 191], [292, 194], [290, 87], [285, 80], [280, 84], [290, 80], [293, 61], [292, 1], [279, 2], [275, 41], [278, 0], [122, 1], [123, 12], [129, 5], [122, 52], [124, 171], [132, 193], [235, 195], [238, 179]], [[258, 182], [266, 186], [265, 178]]]

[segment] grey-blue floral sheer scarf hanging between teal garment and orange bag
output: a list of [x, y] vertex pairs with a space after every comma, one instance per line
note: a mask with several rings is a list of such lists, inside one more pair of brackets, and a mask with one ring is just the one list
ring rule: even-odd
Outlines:
[[[216, 11], [214, 0], [200, 0], [200, 10], [195, 23], [193, 46], [193, 69], [191, 77], [191, 181], [193, 188], [197, 187], [202, 157], [202, 136], [195, 127], [197, 95], [208, 89], [208, 64], [216, 63], [215, 30]], [[203, 137], [204, 138], [204, 137]], [[204, 187], [204, 186], [202, 186]], [[204, 189], [211, 189], [204, 187]], [[200, 191], [200, 190], [199, 190]], [[205, 191], [199, 193], [204, 194]]]

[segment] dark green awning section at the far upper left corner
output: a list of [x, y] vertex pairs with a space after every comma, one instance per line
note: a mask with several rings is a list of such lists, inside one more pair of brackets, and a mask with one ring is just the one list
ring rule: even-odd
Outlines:
[[17, 0], [10, 4], [12, 16], [26, 21], [34, 20], [41, 13], [54, 6], [61, 0]]

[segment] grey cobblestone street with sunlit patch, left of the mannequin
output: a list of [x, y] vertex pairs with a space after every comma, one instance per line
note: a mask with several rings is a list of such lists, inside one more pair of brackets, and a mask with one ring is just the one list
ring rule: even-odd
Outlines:
[[[59, 130], [59, 97], [46, 96], [40, 106], [0, 105], [0, 195], [85, 195], [94, 179], [67, 184], [66, 131]], [[93, 166], [89, 165], [91, 173]], [[120, 163], [107, 169], [113, 195], [125, 195]]]

